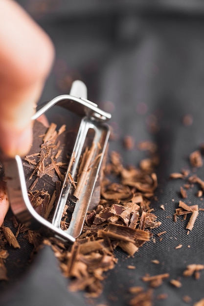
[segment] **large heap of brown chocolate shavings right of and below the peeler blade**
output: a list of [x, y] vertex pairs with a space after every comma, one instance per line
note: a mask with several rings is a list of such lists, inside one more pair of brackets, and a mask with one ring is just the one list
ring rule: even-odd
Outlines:
[[[88, 212], [82, 234], [72, 250], [55, 250], [64, 275], [71, 278], [70, 290], [83, 289], [91, 297], [100, 295], [104, 271], [112, 269], [117, 262], [114, 248], [120, 247], [129, 256], [134, 256], [151, 238], [147, 229], [161, 224], [157, 216], [149, 212], [148, 198], [153, 197], [157, 186], [155, 174], [133, 167], [124, 168], [120, 155], [115, 152], [111, 153], [105, 173], [120, 176], [121, 182], [103, 179], [101, 199], [97, 207]], [[124, 183], [126, 179], [127, 184]], [[136, 190], [133, 181], [134, 184], [141, 182]]]

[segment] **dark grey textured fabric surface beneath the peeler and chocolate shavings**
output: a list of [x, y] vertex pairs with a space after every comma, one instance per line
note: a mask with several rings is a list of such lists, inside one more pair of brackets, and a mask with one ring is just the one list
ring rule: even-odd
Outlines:
[[[153, 230], [156, 243], [151, 240], [144, 244], [134, 258], [127, 258], [125, 253], [116, 250], [118, 263], [107, 273], [104, 291], [97, 300], [86, 300], [83, 292], [69, 292], [52, 251], [45, 248], [29, 268], [23, 269], [24, 272], [15, 270], [10, 260], [13, 269], [10, 268], [9, 273], [15, 282], [8, 291], [1, 290], [1, 305], [127, 305], [128, 287], [141, 285], [146, 288], [141, 281], [143, 275], [165, 272], [170, 273], [170, 279], [181, 278], [182, 287], [175, 288], [169, 280], [164, 281], [154, 296], [167, 293], [168, 298], [155, 299], [154, 305], [184, 306], [184, 295], [192, 298], [189, 305], [193, 305], [204, 298], [204, 272], [197, 281], [193, 277], [183, 278], [182, 272], [187, 264], [204, 264], [204, 215], [200, 212], [192, 232], [186, 235], [187, 220], [173, 221], [183, 182], [170, 181], [168, 177], [181, 168], [190, 169], [189, 154], [204, 143], [202, 2], [178, 1], [174, 4], [175, 1], [163, 1], [160, 4], [155, 1], [151, 14], [147, 1], [142, 2], [145, 4], [135, 1], [136, 5], [128, 1], [126, 5], [123, 3], [123, 9], [121, 1], [119, 4], [113, 1], [114, 5], [113, 2], [108, 5], [108, 1], [96, 1], [100, 2], [98, 7], [88, 1], [87, 5], [83, 4], [84, 11], [83, 5], [74, 8], [70, 1], [50, 1], [51, 6], [48, 2], [35, 1], [38, 5], [33, 5], [32, 1], [22, 1], [56, 46], [56, 62], [41, 101], [68, 93], [71, 81], [82, 79], [88, 86], [89, 98], [113, 114], [110, 124], [118, 138], [110, 143], [110, 150], [119, 151], [124, 164], [137, 165], [145, 155], [136, 146], [132, 151], [125, 150], [122, 145], [125, 135], [131, 135], [136, 144], [143, 140], [157, 143], [160, 157], [158, 201], [152, 202], [152, 207], [162, 225]], [[52, 7], [55, 8], [52, 10]], [[190, 126], [182, 124], [186, 114], [193, 119]], [[54, 117], [59, 123], [68, 118], [68, 124], [74, 124], [70, 116], [63, 119], [60, 109], [49, 112], [50, 121]], [[157, 127], [154, 133], [149, 129], [152, 123]], [[204, 179], [203, 168], [197, 174]], [[197, 190], [197, 186], [190, 188], [184, 201], [204, 208], [204, 201], [195, 196]], [[161, 204], [165, 211], [159, 208]], [[166, 234], [159, 241], [156, 234], [164, 230]], [[181, 249], [175, 249], [179, 244], [182, 244]], [[9, 253], [10, 258], [22, 261], [23, 253], [27, 258], [29, 250], [22, 245], [21, 250]], [[160, 264], [151, 262], [155, 259]], [[136, 269], [127, 269], [129, 264]], [[7, 286], [1, 284], [4, 290]]]

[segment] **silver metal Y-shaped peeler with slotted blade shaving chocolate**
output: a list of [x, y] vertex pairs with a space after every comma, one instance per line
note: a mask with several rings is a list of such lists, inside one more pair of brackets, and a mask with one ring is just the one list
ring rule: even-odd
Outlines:
[[[4, 161], [3, 166], [11, 209], [17, 219], [32, 230], [40, 230], [45, 236], [54, 236], [72, 243], [81, 234], [86, 213], [89, 209], [91, 196], [110, 135], [106, 121], [111, 118], [111, 114], [99, 109], [95, 103], [87, 100], [87, 87], [85, 84], [81, 81], [74, 81], [70, 94], [57, 96], [45, 105], [40, 106], [33, 115], [32, 120], [37, 119], [56, 104], [80, 115], [82, 119], [51, 222], [40, 216], [30, 203], [21, 157], [16, 155], [14, 159]], [[69, 193], [73, 193], [73, 186], [69, 178], [76, 179], [80, 156], [90, 129], [94, 131], [92, 139], [94, 150], [92, 150], [93, 153], [89, 158], [89, 165], [92, 166], [86, 172], [87, 175], [81, 176], [84, 181], [80, 185], [82, 186], [80, 188], [80, 196], [76, 197], [77, 200], [68, 229], [62, 230], [60, 227], [62, 214], [68, 201]]]

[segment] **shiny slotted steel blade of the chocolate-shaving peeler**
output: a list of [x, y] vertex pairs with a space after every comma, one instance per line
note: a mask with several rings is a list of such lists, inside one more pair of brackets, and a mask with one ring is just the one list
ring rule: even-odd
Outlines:
[[[70, 159], [74, 158], [74, 163], [71, 165], [71, 168], [67, 171], [67, 175], [64, 180], [63, 188], [61, 191], [61, 197], [59, 198], [59, 202], [57, 204], [57, 208], [55, 210], [55, 215], [52, 220], [52, 224], [60, 227], [60, 221], [62, 219], [63, 209], [67, 202], [68, 194], [70, 188], [72, 187], [71, 182], [68, 178], [68, 174], [76, 178], [77, 166], [79, 164], [79, 159], [82, 153], [83, 145], [87, 136], [87, 133], [90, 129], [94, 130], [94, 138], [92, 145], [94, 145], [95, 150], [94, 154], [91, 157], [90, 164], [93, 165], [89, 171], [89, 177], [87, 181], [84, 181], [84, 184], [81, 189], [81, 195], [76, 202], [74, 212], [72, 214], [72, 219], [69, 224], [68, 230], [66, 233], [71, 235], [74, 238], [77, 238], [82, 230], [84, 219], [86, 217], [86, 213], [89, 207], [89, 203], [91, 201], [91, 196], [93, 193], [93, 189], [95, 186], [95, 182], [98, 177], [98, 172], [100, 169], [100, 165], [102, 162], [102, 158], [106, 149], [109, 130], [107, 126], [101, 125], [98, 122], [90, 121], [89, 118], [85, 117], [81, 121], [81, 125], [79, 127], [77, 139], [75, 141], [73, 153]], [[98, 146], [100, 144], [100, 146]], [[94, 163], [97, 156], [100, 156], [98, 160]]]

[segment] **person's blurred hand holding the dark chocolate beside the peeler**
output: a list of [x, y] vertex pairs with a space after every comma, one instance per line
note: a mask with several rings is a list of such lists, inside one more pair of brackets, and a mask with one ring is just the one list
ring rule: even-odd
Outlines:
[[[0, 150], [25, 155], [32, 144], [31, 116], [54, 58], [45, 32], [12, 0], [0, 0]], [[0, 225], [8, 210], [0, 181]]]

